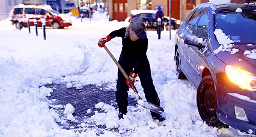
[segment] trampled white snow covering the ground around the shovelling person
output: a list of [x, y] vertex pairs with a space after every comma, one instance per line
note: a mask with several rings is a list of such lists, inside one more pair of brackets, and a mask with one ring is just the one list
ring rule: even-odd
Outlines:
[[[117, 66], [97, 42], [111, 31], [125, 27], [124, 22], [107, 22], [105, 13], [95, 13], [91, 21], [71, 17], [73, 25], [65, 29], [46, 29], [46, 40], [42, 28], [38, 37], [34, 27], [21, 31], [10, 24], [9, 19], [0, 21], [0, 137], [228, 137], [242, 135], [233, 128], [209, 127], [200, 119], [196, 107], [196, 90], [187, 80], [175, 75], [174, 39], [176, 31], [162, 31], [157, 39], [156, 31], [147, 31], [149, 48], [147, 55], [156, 90], [165, 109], [166, 120], [155, 121], [150, 112], [141, 106], [129, 106], [124, 119], [117, 118], [117, 110], [111, 104], [100, 102], [95, 112], [85, 121], [94, 121], [106, 128], [99, 133], [80, 123], [81, 129], [62, 129], [58, 123], [75, 121], [70, 104], [60, 117], [49, 109], [51, 88], [43, 85], [67, 82], [67, 87], [76, 85], [109, 83], [115, 89]], [[118, 59], [121, 38], [116, 37], [107, 44]], [[139, 80], [139, 78], [137, 78]], [[42, 86], [42, 87], [41, 87]], [[135, 86], [145, 100], [140, 82]], [[41, 88], [39, 88], [41, 87]], [[129, 96], [135, 96], [129, 91]], [[85, 104], [86, 105], [86, 104]], [[85, 112], [86, 113], [86, 112]], [[91, 113], [90, 110], [87, 113]], [[80, 131], [80, 132], [79, 132]], [[82, 131], [82, 132], [81, 132]]]

